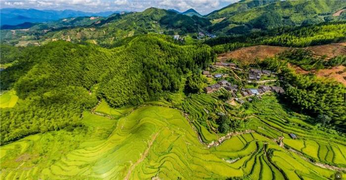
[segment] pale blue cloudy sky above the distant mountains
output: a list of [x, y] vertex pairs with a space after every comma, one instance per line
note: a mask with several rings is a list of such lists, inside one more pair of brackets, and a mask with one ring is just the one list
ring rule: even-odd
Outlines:
[[207, 14], [238, 0], [0, 0], [1, 8], [73, 9], [87, 12], [143, 11], [149, 7], [185, 11], [194, 8]]

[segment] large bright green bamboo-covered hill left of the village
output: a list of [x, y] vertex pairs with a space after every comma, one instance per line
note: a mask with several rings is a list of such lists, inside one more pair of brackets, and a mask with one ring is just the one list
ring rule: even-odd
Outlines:
[[121, 107], [177, 91], [183, 74], [215, 57], [209, 46], [179, 46], [164, 36], [138, 36], [115, 49], [55, 41], [12, 52], [19, 55], [5, 57], [17, 62], [1, 72], [1, 88], [14, 87], [21, 100], [1, 109], [1, 144], [77, 126], [96, 97]]

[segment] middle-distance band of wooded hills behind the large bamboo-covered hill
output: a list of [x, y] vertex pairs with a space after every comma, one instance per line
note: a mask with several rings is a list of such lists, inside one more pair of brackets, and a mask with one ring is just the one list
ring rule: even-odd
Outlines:
[[[97, 44], [112, 44], [142, 34], [186, 35], [211, 25], [208, 19], [187, 16], [165, 9], [148, 8], [143, 12], [113, 14], [107, 18], [78, 17], [39, 24], [28, 31], [1, 30], [1, 42], [17, 44], [26, 40], [46, 42], [56, 39], [80, 42], [93, 39]], [[29, 39], [28, 39], [29, 38]], [[32, 39], [30, 39], [32, 38]]]

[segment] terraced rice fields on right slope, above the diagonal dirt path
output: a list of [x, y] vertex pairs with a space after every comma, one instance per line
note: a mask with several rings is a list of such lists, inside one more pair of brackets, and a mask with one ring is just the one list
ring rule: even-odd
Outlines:
[[[267, 106], [270, 104], [270, 106]], [[250, 124], [259, 134], [270, 139], [284, 137], [283, 143], [304, 156], [317, 162], [346, 167], [346, 138], [317, 130], [304, 122], [308, 118], [294, 112], [287, 113], [277, 100], [265, 97], [256, 102], [256, 115], [251, 118]], [[299, 138], [293, 140], [288, 135], [296, 134]]]

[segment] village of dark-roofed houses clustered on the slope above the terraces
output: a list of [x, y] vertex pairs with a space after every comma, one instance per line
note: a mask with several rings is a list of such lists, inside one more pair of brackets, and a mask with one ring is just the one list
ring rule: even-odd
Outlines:
[[[246, 101], [253, 101], [254, 96], [261, 98], [261, 95], [274, 92], [277, 94], [284, 93], [282, 87], [272, 85], [272, 82], [278, 80], [276, 73], [268, 70], [260, 70], [255, 68], [250, 68], [245, 71], [239, 68], [235, 63], [224, 63], [216, 62], [214, 65], [210, 66], [211, 71], [202, 71], [202, 74], [210, 79], [210, 82], [214, 82], [204, 88], [205, 93], [210, 94], [220, 89], [225, 89], [231, 94], [231, 99], [229, 101], [236, 101], [238, 104], [244, 104]], [[228, 73], [221, 73], [217, 70], [229, 71]], [[232, 73], [233, 72], [233, 73]], [[235, 72], [241, 72], [243, 76], [246, 75], [246, 79], [239, 77]], [[245, 88], [241, 87], [235, 83], [231, 83], [227, 78], [235, 76], [236, 79], [243, 84], [260, 84], [258, 86]], [[265, 78], [263, 78], [265, 77]], [[263, 80], [265, 79], [265, 80]], [[271, 83], [270, 85], [265, 85], [266, 83]]]

